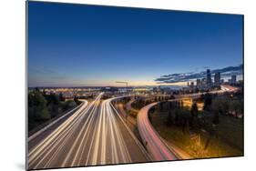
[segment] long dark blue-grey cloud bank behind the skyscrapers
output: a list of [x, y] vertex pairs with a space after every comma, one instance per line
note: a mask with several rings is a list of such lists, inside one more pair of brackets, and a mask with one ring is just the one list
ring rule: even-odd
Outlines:
[[[220, 69], [214, 69], [210, 71], [211, 74], [220, 73], [221, 77], [228, 77], [231, 75], [242, 75], [242, 65], [227, 66]], [[155, 81], [161, 83], [178, 83], [192, 81], [198, 78], [206, 77], [206, 71], [201, 72], [189, 72], [189, 73], [176, 73], [171, 75], [162, 75]]]

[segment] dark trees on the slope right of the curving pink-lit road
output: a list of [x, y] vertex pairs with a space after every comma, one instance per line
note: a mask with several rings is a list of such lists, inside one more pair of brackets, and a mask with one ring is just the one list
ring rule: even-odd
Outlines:
[[[152, 107], [149, 113], [168, 112], [167, 126], [176, 126], [183, 133], [199, 135], [202, 131], [207, 132], [209, 138], [205, 149], [210, 144], [210, 139], [217, 136], [216, 128], [220, 124], [220, 115], [243, 117], [243, 98], [240, 94], [217, 96], [205, 94], [198, 99], [204, 103], [203, 110], [198, 109], [197, 100], [192, 106], [183, 106], [182, 101], [160, 101], [158, 106]], [[149, 119], [150, 115], [149, 115]]]

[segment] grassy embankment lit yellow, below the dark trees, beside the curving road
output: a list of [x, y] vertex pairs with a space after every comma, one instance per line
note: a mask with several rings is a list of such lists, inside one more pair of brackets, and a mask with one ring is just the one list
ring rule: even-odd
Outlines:
[[[210, 120], [211, 116], [206, 118]], [[167, 126], [167, 119], [167, 111], [157, 110], [150, 120], [160, 136], [183, 149], [192, 158], [243, 155], [243, 119], [220, 115], [220, 124], [215, 126], [216, 135], [212, 137], [205, 131], [191, 136], [189, 131], [184, 132], [180, 126]], [[209, 139], [210, 144], [205, 148]]]

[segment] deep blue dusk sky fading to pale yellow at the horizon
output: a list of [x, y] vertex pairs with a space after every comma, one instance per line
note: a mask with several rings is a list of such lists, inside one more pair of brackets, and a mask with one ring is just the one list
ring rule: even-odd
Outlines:
[[242, 15], [29, 2], [28, 86], [158, 85], [241, 65], [242, 25]]

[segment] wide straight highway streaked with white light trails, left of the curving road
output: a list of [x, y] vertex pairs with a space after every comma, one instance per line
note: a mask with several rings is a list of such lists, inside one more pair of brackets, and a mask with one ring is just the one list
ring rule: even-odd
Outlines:
[[102, 96], [85, 103], [36, 145], [28, 145], [28, 169], [147, 162], [149, 156], [112, 99]]

